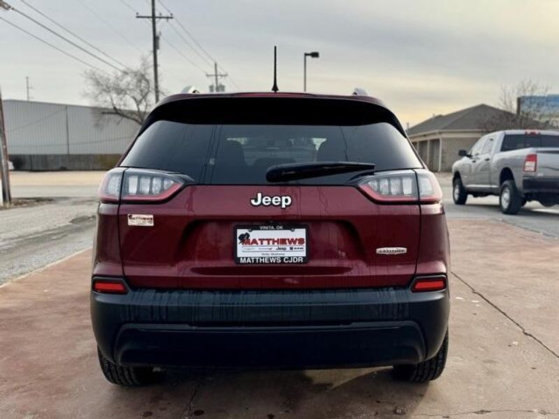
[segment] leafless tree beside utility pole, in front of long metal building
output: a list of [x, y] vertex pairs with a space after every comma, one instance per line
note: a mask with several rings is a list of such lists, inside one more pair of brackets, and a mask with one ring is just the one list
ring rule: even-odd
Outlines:
[[116, 115], [142, 125], [154, 105], [151, 63], [143, 57], [138, 68], [126, 68], [111, 75], [87, 70], [84, 95], [99, 107], [99, 117]]

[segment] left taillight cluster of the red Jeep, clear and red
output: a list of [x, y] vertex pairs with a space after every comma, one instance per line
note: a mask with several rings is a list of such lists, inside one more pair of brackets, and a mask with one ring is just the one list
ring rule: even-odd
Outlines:
[[101, 182], [101, 202], [157, 202], [167, 200], [184, 186], [177, 175], [159, 170], [116, 168]]

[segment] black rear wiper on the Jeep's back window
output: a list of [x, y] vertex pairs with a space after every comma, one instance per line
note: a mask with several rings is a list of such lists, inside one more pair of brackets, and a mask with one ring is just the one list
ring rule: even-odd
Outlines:
[[266, 171], [268, 182], [287, 182], [296, 179], [308, 179], [340, 173], [368, 170], [372, 174], [375, 163], [358, 163], [356, 161], [317, 161], [307, 163], [288, 163], [272, 166]]

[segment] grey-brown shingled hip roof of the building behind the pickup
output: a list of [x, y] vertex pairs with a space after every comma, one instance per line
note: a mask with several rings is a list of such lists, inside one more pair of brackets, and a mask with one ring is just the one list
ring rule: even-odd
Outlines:
[[511, 112], [481, 103], [447, 115], [437, 115], [429, 118], [409, 128], [407, 135], [413, 137], [433, 131], [484, 131], [489, 120], [514, 117], [515, 115]]

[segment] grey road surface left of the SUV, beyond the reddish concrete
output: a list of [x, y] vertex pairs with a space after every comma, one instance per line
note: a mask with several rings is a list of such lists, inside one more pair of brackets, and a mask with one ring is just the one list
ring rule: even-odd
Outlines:
[[12, 195], [38, 203], [0, 210], [0, 284], [91, 247], [104, 172], [11, 172]]

